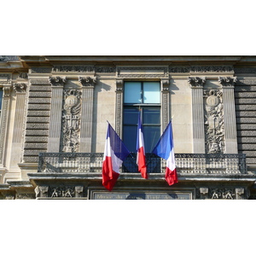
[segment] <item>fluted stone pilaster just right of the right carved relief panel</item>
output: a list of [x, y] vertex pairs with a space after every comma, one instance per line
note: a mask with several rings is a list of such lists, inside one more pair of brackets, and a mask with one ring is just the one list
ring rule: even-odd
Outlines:
[[224, 110], [224, 140], [225, 140], [225, 153], [237, 154], [237, 137], [236, 137], [236, 108], [235, 108], [235, 95], [234, 78], [218, 78], [218, 82], [222, 84], [223, 88], [223, 110]]

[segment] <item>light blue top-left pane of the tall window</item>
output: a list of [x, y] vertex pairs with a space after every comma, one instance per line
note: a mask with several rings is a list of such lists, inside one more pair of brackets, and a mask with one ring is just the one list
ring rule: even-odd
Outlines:
[[142, 103], [140, 82], [125, 82], [125, 103]]

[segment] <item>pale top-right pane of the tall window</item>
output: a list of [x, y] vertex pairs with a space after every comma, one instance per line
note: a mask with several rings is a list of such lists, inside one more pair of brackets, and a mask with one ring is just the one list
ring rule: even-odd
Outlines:
[[160, 83], [144, 82], [143, 83], [143, 102], [160, 103]]

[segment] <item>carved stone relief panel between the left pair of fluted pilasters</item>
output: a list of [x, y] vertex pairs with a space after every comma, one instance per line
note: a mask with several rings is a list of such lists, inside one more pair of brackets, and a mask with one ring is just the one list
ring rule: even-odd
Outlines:
[[77, 152], [80, 141], [81, 91], [64, 90], [61, 151]]

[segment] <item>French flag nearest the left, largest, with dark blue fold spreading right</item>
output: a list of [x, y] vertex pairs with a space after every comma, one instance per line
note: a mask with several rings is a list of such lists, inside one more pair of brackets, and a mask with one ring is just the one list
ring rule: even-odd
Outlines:
[[119, 167], [128, 154], [130, 154], [130, 151], [125, 147], [125, 144], [108, 123], [102, 163], [102, 184], [109, 191], [113, 189], [114, 184], [119, 178]]

